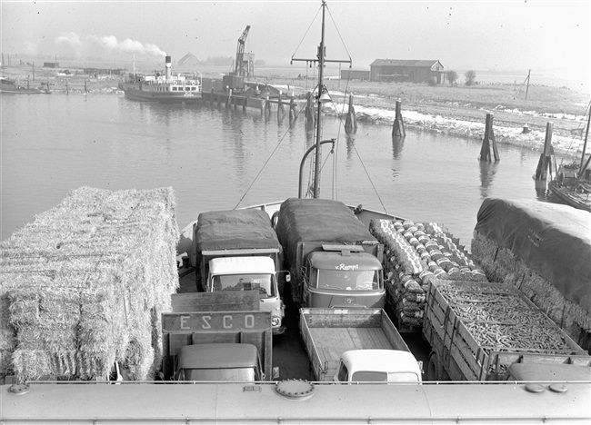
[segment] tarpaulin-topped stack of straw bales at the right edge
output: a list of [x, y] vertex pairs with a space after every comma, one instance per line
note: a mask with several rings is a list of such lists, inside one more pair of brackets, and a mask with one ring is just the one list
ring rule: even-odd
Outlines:
[[567, 205], [487, 198], [472, 252], [489, 280], [515, 285], [591, 352], [591, 214]]

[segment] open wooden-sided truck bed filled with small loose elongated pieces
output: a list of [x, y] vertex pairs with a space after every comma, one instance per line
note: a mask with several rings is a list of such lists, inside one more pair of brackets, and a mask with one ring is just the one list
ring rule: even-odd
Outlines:
[[514, 363], [591, 366], [591, 356], [515, 286], [434, 280], [423, 336], [427, 381], [503, 381]]

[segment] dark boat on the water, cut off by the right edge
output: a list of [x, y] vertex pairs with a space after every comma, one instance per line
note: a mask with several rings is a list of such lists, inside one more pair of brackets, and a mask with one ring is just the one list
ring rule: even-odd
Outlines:
[[583, 143], [580, 163], [561, 164], [556, 178], [548, 183], [548, 191], [560, 202], [589, 213], [591, 213], [591, 170], [589, 170], [591, 155], [586, 158], [586, 143], [590, 122], [591, 114], [587, 119], [585, 143]]

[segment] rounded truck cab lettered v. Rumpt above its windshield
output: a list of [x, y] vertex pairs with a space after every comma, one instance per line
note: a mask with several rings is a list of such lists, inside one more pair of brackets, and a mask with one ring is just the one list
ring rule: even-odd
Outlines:
[[[345, 250], [332, 251], [337, 249]], [[308, 254], [302, 272], [302, 299], [310, 308], [384, 307], [382, 263], [361, 247], [325, 245], [325, 251]]]

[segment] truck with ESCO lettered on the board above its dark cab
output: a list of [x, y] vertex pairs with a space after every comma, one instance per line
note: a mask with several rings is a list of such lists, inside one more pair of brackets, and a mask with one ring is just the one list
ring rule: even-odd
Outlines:
[[162, 315], [163, 378], [267, 381], [272, 376], [271, 313], [257, 292], [174, 294]]

